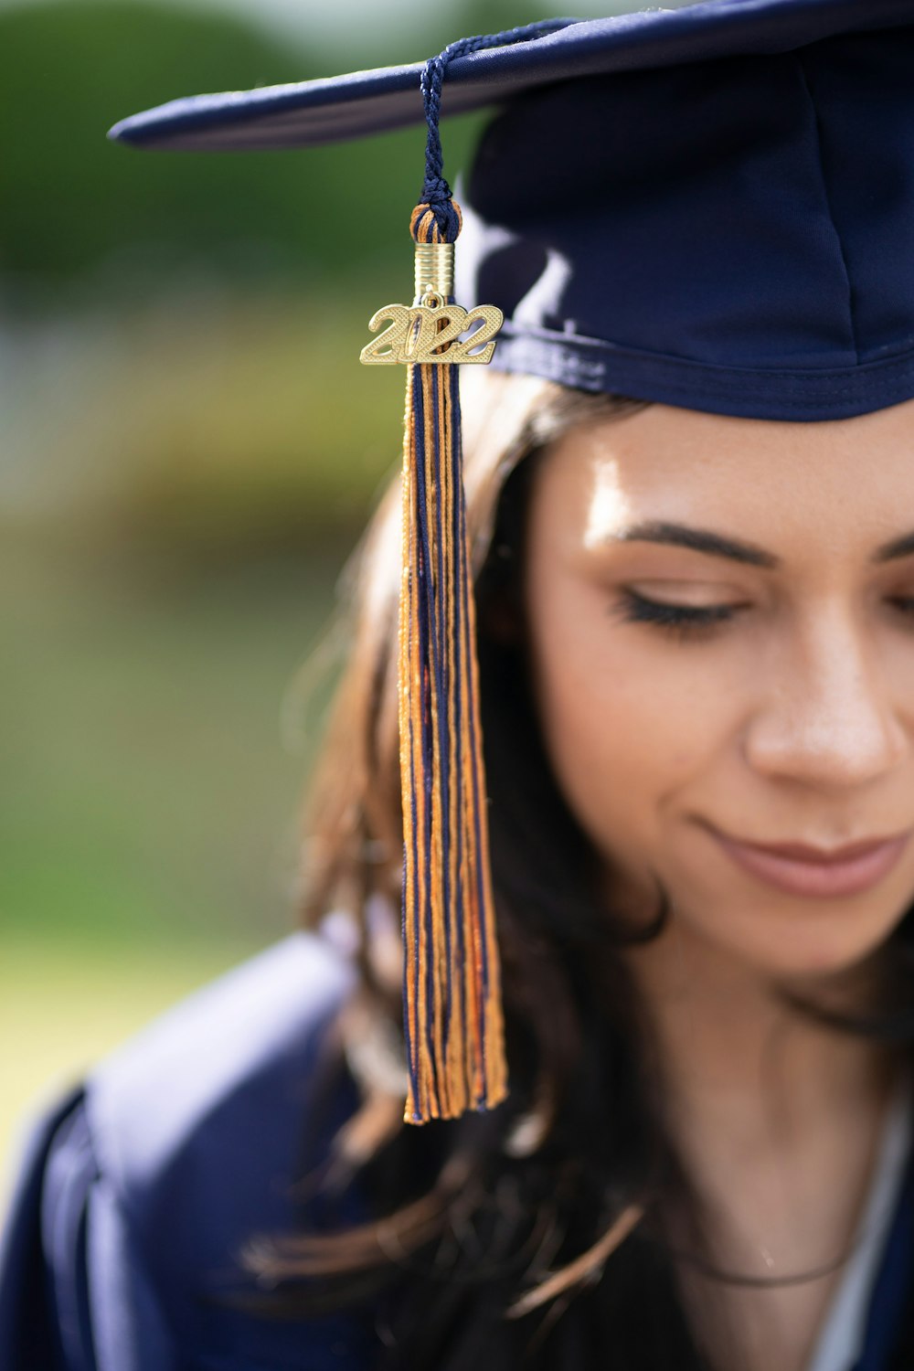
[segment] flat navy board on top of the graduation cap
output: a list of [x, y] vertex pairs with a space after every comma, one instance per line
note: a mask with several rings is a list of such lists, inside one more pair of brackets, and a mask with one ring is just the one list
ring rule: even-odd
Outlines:
[[[502, 104], [573, 77], [785, 52], [847, 30], [910, 23], [914, 0], [704, 0], [610, 19], [556, 21], [558, 32], [455, 58], [441, 114]], [[423, 119], [423, 63], [292, 85], [171, 100], [122, 119], [108, 137], [149, 148], [277, 149], [340, 143]]]

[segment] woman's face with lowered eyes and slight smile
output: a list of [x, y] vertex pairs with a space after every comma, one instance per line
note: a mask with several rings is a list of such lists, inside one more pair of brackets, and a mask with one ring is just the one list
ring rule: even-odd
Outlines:
[[[914, 400], [654, 404], [566, 436], [530, 500], [540, 718], [613, 899], [650, 917], [659, 877], [680, 928], [781, 976], [862, 960], [914, 898]], [[902, 834], [881, 873], [726, 842]]]

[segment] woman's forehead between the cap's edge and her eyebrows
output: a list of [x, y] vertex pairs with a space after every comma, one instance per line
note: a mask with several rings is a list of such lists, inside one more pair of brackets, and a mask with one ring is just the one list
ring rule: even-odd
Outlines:
[[889, 536], [914, 525], [914, 400], [811, 424], [651, 404], [567, 433], [540, 489], [540, 518], [591, 533], [650, 514], [739, 528], [773, 548]]

